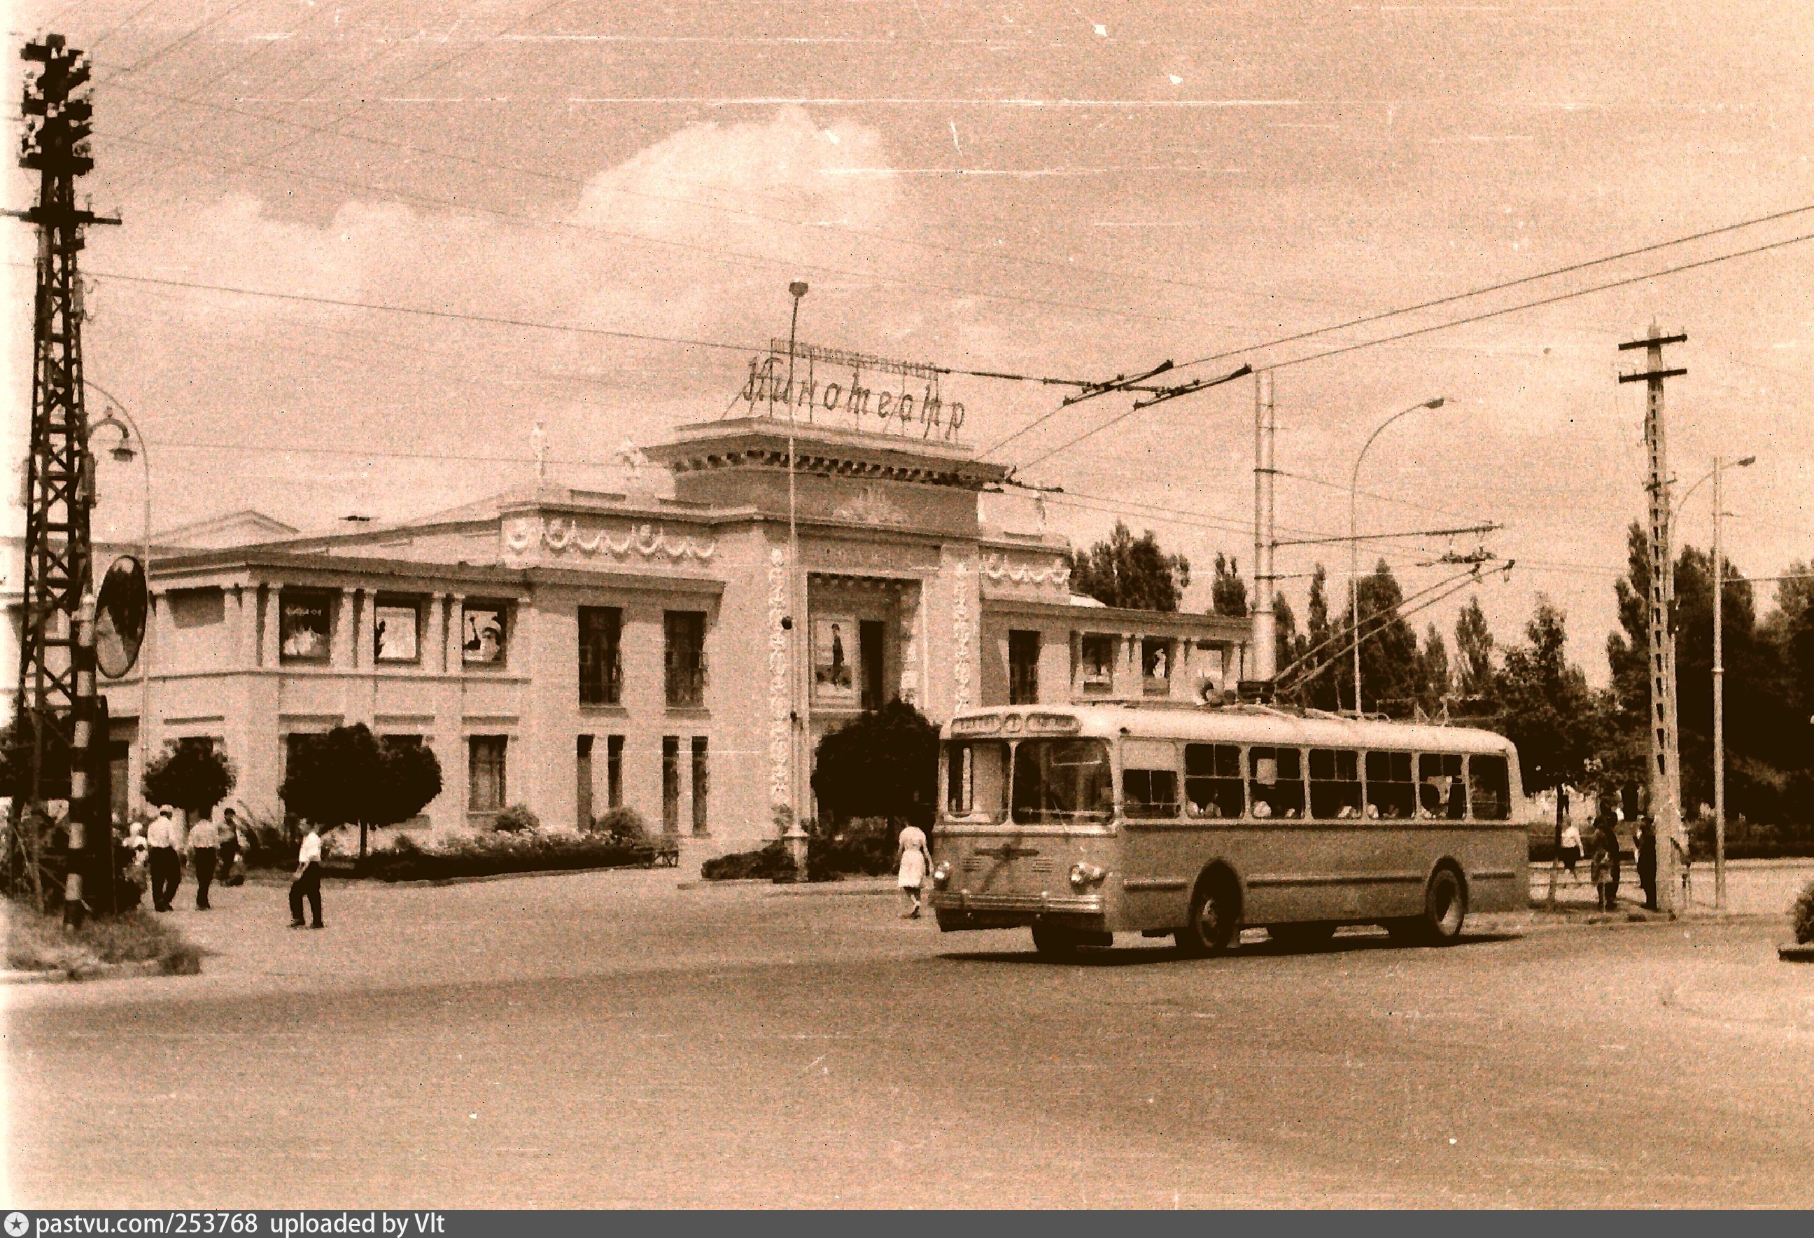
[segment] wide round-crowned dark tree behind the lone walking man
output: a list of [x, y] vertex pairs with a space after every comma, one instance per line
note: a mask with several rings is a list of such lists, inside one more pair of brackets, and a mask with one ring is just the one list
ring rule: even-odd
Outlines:
[[359, 824], [359, 859], [372, 826], [408, 820], [441, 793], [441, 761], [419, 739], [372, 735], [365, 722], [336, 726], [297, 746], [278, 790], [283, 806], [323, 826]]

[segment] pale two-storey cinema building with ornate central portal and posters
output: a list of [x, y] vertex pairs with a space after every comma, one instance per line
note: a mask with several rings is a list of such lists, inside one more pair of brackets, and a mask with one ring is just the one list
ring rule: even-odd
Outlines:
[[510, 804], [546, 828], [629, 804], [717, 850], [773, 837], [782, 806], [813, 815], [818, 737], [896, 695], [945, 721], [1243, 675], [1244, 621], [1072, 597], [1061, 537], [981, 523], [1005, 468], [936, 437], [800, 425], [791, 539], [787, 430], [684, 427], [624, 492], [160, 535], [151, 683], [105, 684], [116, 808], [140, 806], [143, 753], [187, 735], [234, 761], [234, 801], [274, 815], [297, 737], [365, 722], [441, 759], [434, 833]]

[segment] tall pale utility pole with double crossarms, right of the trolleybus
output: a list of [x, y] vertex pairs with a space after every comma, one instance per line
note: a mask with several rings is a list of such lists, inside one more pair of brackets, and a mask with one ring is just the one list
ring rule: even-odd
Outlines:
[[1676, 568], [1669, 539], [1669, 437], [1663, 425], [1663, 379], [1680, 378], [1687, 370], [1663, 368], [1663, 345], [1685, 339], [1685, 334], [1663, 336], [1653, 319], [1643, 339], [1618, 345], [1620, 352], [1645, 350], [1645, 368], [1636, 374], [1620, 374], [1618, 381], [1647, 385], [1643, 445], [1649, 454], [1647, 490], [1651, 505], [1651, 590], [1645, 599], [1651, 619], [1647, 666], [1651, 717], [1645, 730], [1649, 732], [1651, 753], [1651, 817], [1656, 822], [1656, 906], [1669, 913], [1680, 909], [1676, 906], [1682, 880], [1678, 855], [1687, 855], [1689, 840], [1682, 826], [1682, 746], [1676, 728]]

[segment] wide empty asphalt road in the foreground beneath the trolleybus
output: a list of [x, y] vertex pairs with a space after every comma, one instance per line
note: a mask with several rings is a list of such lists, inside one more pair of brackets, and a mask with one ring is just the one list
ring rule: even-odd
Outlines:
[[651, 875], [218, 906], [203, 977], [7, 993], [9, 1205], [1814, 1205], [1780, 922], [1050, 966]]

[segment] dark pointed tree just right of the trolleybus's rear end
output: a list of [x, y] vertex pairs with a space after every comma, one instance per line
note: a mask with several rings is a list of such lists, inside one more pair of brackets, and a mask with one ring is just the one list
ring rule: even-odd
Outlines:
[[1567, 661], [1567, 617], [1538, 594], [1524, 637], [1506, 650], [1495, 683], [1502, 730], [1518, 748], [1526, 790], [1580, 786], [1598, 744], [1587, 677]]

